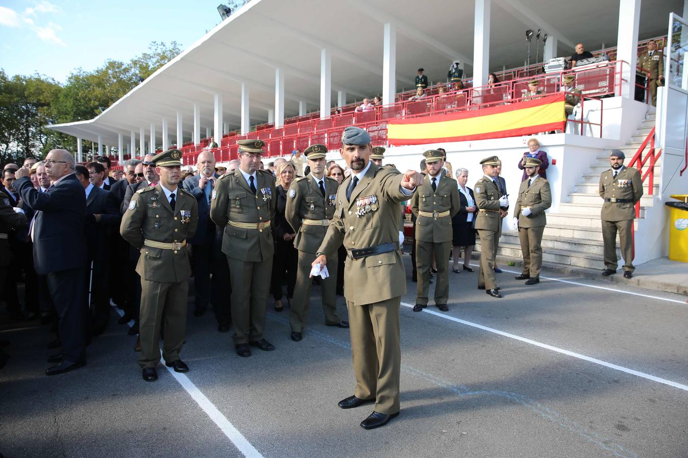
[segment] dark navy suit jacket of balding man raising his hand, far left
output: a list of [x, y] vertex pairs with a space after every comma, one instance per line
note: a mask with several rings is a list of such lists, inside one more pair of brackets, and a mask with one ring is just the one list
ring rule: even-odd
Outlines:
[[34, 189], [28, 176], [15, 181], [14, 187], [26, 205], [35, 211], [36, 273], [45, 275], [85, 266], [86, 195], [76, 175], [65, 176], [44, 193]]

